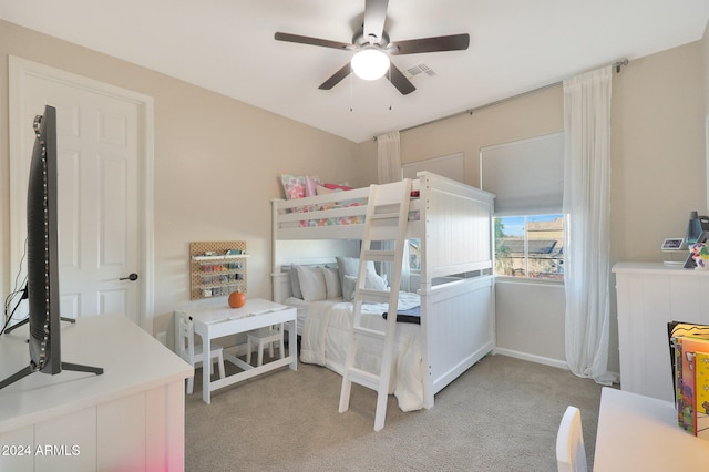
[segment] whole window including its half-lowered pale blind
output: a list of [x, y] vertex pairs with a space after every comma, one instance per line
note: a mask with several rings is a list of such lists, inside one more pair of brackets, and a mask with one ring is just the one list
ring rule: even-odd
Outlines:
[[480, 166], [495, 194], [495, 274], [564, 280], [564, 134], [484, 147]]

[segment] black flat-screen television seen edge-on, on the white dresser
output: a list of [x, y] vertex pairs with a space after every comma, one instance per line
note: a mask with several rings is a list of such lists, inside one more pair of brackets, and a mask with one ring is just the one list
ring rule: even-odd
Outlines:
[[[34, 147], [27, 189], [27, 299], [30, 363], [0, 382], [0, 389], [33, 372], [75, 370], [102, 374], [99, 367], [62, 362], [59, 246], [56, 109], [34, 119]], [[17, 326], [17, 325], [16, 325]], [[8, 330], [6, 330], [8, 332]]]

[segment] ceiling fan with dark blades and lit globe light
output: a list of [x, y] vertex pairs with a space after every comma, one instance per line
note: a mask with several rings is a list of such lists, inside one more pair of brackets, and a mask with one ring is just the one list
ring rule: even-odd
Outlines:
[[[387, 75], [399, 92], [401, 92], [402, 95], [407, 95], [417, 89], [411, 81], [390, 62], [389, 55], [462, 51], [467, 49], [470, 35], [464, 33], [390, 42], [389, 34], [384, 31], [388, 6], [389, 0], [366, 0], [364, 24], [361, 30], [354, 33], [351, 44], [281, 32], [277, 32], [274, 38], [277, 41], [357, 51], [352, 57], [351, 63], [348, 62], [345, 64], [339, 71], [320, 84], [319, 89], [321, 90], [332, 89], [349, 75], [351, 71], [354, 71], [358, 76], [366, 80], [376, 80]], [[387, 72], [389, 72], [389, 74], [387, 74]]]

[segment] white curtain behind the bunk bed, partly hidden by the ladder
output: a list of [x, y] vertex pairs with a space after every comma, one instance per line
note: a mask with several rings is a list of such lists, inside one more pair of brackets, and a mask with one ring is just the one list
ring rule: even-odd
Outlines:
[[[378, 179], [380, 184], [388, 184], [391, 182], [401, 181], [401, 146], [399, 140], [399, 132], [393, 131], [377, 136], [377, 165], [378, 165]], [[393, 249], [393, 242], [384, 242], [384, 249]], [[391, 247], [389, 247], [391, 246]], [[411, 279], [411, 271], [409, 270], [409, 252], [407, 250], [409, 244], [404, 246], [404, 257], [401, 267], [401, 285], [402, 290], [409, 290], [409, 281]], [[380, 268], [381, 275], [386, 275], [387, 279], [391, 281], [391, 264], [383, 264]]]

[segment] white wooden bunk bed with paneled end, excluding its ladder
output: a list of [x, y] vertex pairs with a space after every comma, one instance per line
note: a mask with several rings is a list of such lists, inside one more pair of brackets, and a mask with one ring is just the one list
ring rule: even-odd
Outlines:
[[[495, 346], [494, 196], [430, 172], [417, 177], [407, 238], [418, 242], [420, 270], [410, 276], [398, 307], [413, 309], [415, 322], [398, 322], [390, 382], [403, 411], [432, 408], [435, 393]], [[369, 187], [271, 201], [274, 300], [298, 309], [301, 361], [340, 374], [352, 304], [329, 296], [305, 301], [294, 294], [291, 277], [314, 267], [332, 276], [338, 263], [342, 276], [342, 259], [359, 256], [368, 196]], [[386, 305], [367, 311], [374, 315], [372, 325], [384, 322]]]

